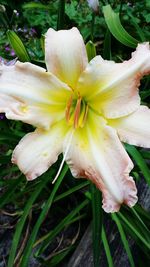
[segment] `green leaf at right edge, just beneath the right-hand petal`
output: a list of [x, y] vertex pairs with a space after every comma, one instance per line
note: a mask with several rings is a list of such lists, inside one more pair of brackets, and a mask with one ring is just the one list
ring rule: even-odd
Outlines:
[[143, 159], [141, 153], [134, 147], [129, 144], [125, 145], [126, 150], [132, 156], [132, 158], [136, 161], [139, 169], [143, 173], [146, 182], [150, 185], [150, 170], [146, 164], [146, 161]]

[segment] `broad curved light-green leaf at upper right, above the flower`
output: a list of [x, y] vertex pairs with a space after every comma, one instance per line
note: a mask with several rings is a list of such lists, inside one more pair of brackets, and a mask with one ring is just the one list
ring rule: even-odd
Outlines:
[[104, 18], [112, 35], [122, 44], [135, 48], [139, 43], [122, 26], [119, 13], [115, 13], [110, 5], [103, 7]]

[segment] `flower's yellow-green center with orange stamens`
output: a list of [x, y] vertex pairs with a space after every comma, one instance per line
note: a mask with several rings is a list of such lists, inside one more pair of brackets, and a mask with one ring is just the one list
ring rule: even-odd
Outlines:
[[73, 125], [74, 128], [83, 128], [87, 120], [88, 109], [89, 107], [82, 97], [73, 99], [73, 95], [71, 95], [66, 106], [68, 125]]

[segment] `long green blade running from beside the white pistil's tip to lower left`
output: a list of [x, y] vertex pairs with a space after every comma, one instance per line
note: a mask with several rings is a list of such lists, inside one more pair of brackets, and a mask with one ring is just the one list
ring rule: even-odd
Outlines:
[[54, 188], [51, 192], [51, 195], [50, 197], [48, 198], [47, 202], [45, 203], [45, 206], [43, 207], [43, 210], [41, 211], [40, 215], [39, 215], [39, 218], [34, 226], [34, 228], [32, 229], [32, 233], [31, 233], [31, 236], [30, 236], [30, 239], [28, 240], [28, 243], [26, 245], [26, 248], [24, 250], [24, 253], [23, 253], [23, 256], [22, 256], [22, 260], [21, 260], [21, 267], [26, 267], [28, 266], [28, 261], [29, 261], [29, 257], [30, 257], [30, 254], [32, 252], [32, 248], [33, 248], [33, 244], [35, 242], [35, 239], [36, 239], [36, 236], [37, 236], [37, 233], [38, 233], [38, 230], [43, 222], [43, 220], [45, 219], [45, 216], [47, 214], [47, 212], [49, 211], [52, 203], [53, 203], [53, 199], [55, 197], [55, 194], [64, 178], [64, 176], [66, 175], [68, 171], [68, 166], [65, 165], [60, 176], [58, 177], [55, 185], [54, 185]]

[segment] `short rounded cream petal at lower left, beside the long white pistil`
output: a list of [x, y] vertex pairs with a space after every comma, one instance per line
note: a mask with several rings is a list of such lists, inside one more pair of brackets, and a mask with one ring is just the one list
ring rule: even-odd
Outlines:
[[28, 180], [37, 178], [56, 162], [62, 152], [66, 130], [66, 124], [61, 121], [49, 131], [37, 129], [19, 142], [13, 152], [12, 162], [18, 165]]

